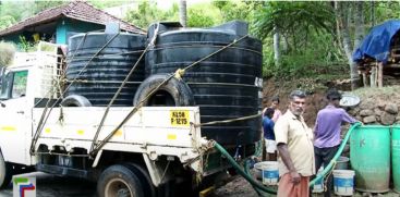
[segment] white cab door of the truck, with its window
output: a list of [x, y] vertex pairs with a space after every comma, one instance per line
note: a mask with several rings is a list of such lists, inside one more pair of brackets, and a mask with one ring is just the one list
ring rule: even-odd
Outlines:
[[31, 164], [32, 123], [26, 97], [28, 71], [5, 74], [1, 85], [0, 148], [5, 161]]

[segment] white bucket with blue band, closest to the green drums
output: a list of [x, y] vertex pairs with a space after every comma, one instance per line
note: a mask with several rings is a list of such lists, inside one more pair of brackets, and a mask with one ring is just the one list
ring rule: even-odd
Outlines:
[[335, 194], [339, 196], [352, 196], [354, 187], [354, 171], [334, 170]]

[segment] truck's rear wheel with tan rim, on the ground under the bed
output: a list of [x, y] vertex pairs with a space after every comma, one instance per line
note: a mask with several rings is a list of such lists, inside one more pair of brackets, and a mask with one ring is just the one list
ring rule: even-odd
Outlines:
[[133, 196], [144, 197], [143, 186], [137, 175], [121, 164], [106, 169], [98, 182], [97, 193], [100, 197]]

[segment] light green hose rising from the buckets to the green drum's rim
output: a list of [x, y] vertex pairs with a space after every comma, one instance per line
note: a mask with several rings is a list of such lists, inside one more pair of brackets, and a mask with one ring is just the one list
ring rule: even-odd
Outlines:
[[336, 155], [334, 156], [332, 160], [330, 160], [329, 164], [324, 168], [322, 173], [318, 173], [316, 175], [316, 177], [310, 182], [310, 184], [308, 184], [310, 187], [314, 186], [316, 182], [318, 182], [320, 178], [323, 178], [327, 173], [329, 173], [332, 170], [332, 167], [336, 164], [336, 161], [338, 160], [341, 152], [343, 151], [344, 146], [348, 143], [351, 133], [353, 132], [354, 128], [356, 128], [360, 125], [361, 125], [361, 123], [356, 122], [350, 127], [349, 132], [346, 134], [346, 137], [342, 140], [342, 143], [340, 144], [340, 147], [339, 147], [338, 151], [336, 152]]

